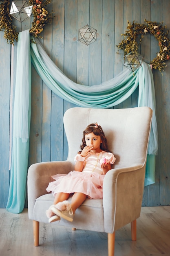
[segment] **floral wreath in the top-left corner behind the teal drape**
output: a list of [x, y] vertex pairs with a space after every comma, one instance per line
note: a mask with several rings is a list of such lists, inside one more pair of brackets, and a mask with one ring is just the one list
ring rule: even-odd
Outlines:
[[[34, 16], [32, 27], [29, 30], [30, 34], [42, 38], [39, 34], [43, 31], [44, 26], [52, 21], [52, 13], [45, 9], [46, 5], [51, 3], [51, 0], [29, 0], [29, 3], [33, 5], [32, 14]], [[7, 39], [7, 43], [13, 44], [14, 40], [18, 40], [19, 32], [12, 25], [9, 5], [10, 0], [4, 0], [0, 3], [0, 31], [4, 30], [4, 38]]]

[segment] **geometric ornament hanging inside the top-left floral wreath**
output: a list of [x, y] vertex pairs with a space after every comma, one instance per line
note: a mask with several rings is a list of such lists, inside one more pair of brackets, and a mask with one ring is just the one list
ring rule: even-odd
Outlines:
[[29, 3], [29, 0], [13, 1], [11, 5], [10, 15], [18, 21], [22, 22], [31, 17], [33, 5]]

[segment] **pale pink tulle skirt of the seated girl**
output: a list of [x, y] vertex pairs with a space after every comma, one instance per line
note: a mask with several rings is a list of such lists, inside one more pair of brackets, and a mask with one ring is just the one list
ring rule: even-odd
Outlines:
[[56, 174], [52, 178], [55, 181], [50, 182], [46, 190], [51, 191], [53, 196], [58, 192], [80, 192], [91, 199], [103, 198], [104, 175], [71, 171], [68, 174]]

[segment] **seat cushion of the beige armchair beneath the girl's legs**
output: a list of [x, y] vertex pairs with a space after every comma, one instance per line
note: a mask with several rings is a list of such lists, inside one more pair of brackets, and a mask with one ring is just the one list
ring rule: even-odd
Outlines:
[[[45, 212], [53, 204], [53, 200], [54, 197], [51, 193], [42, 195], [36, 199], [33, 209], [34, 220], [48, 223]], [[71, 197], [68, 201], [71, 202]], [[91, 224], [89, 224], [89, 218]], [[86, 198], [83, 204], [76, 210], [73, 222], [61, 219], [60, 221], [51, 223], [51, 225], [53, 224], [104, 232], [103, 200]]]

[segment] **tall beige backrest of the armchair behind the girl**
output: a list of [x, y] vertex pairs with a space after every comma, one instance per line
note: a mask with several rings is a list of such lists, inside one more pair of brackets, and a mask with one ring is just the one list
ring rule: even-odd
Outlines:
[[83, 130], [97, 122], [104, 130], [108, 147], [116, 157], [115, 166], [145, 164], [152, 110], [148, 107], [125, 109], [70, 108], [64, 114], [68, 160], [80, 150]]

